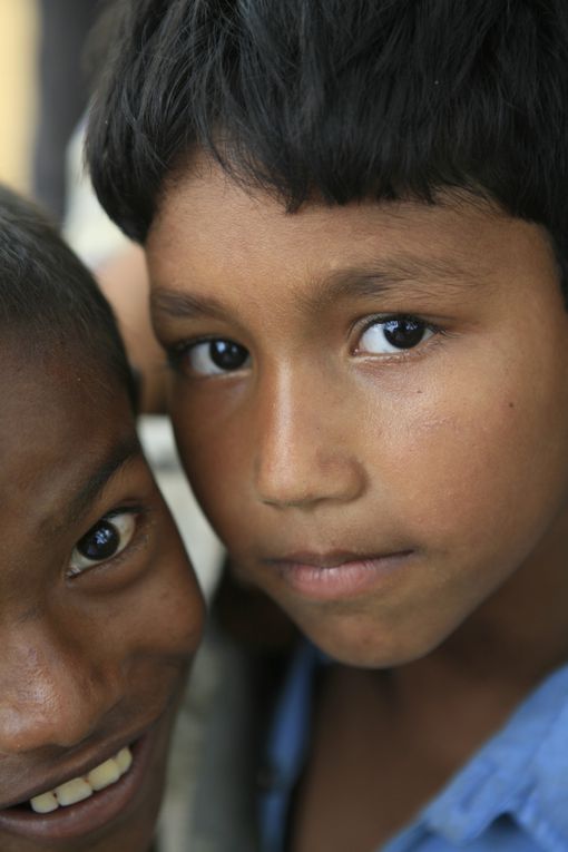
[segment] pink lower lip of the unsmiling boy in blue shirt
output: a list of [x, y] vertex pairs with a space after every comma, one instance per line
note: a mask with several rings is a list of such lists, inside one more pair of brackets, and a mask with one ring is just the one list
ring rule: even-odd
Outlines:
[[326, 568], [277, 561], [281, 578], [296, 594], [313, 600], [344, 600], [386, 586], [413, 556], [412, 550]]

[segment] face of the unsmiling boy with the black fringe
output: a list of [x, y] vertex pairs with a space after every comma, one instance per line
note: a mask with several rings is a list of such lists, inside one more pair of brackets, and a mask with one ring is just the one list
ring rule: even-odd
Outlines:
[[568, 314], [543, 232], [450, 198], [286, 214], [202, 166], [147, 249], [178, 443], [238, 575], [369, 666], [474, 611], [565, 607]]

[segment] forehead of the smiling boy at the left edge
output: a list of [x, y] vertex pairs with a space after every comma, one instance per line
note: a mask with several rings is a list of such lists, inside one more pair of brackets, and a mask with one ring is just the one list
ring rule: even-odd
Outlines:
[[[126, 391], [102, 371], [46, 360], [0, 359], [0, 507], [52, 535], [77, 521], [105, 486], [141, 458]], [[6, 517], [6, 515], [4, 515]]]

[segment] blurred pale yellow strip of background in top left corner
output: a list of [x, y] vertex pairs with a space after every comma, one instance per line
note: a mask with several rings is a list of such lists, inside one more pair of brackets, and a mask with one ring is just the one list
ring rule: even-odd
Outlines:
[[36, 114], [36, 0], [0, 0], [0, 180], [27, 192]]

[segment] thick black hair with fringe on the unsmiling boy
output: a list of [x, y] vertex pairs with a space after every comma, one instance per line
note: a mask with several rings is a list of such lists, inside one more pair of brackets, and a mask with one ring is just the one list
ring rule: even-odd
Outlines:
[[87, 153], [135, 239], [203, 146], [288, 209], [458, 188], [542, 224], [568, 258], [567, 0], [118, 0], [112, 12]]

